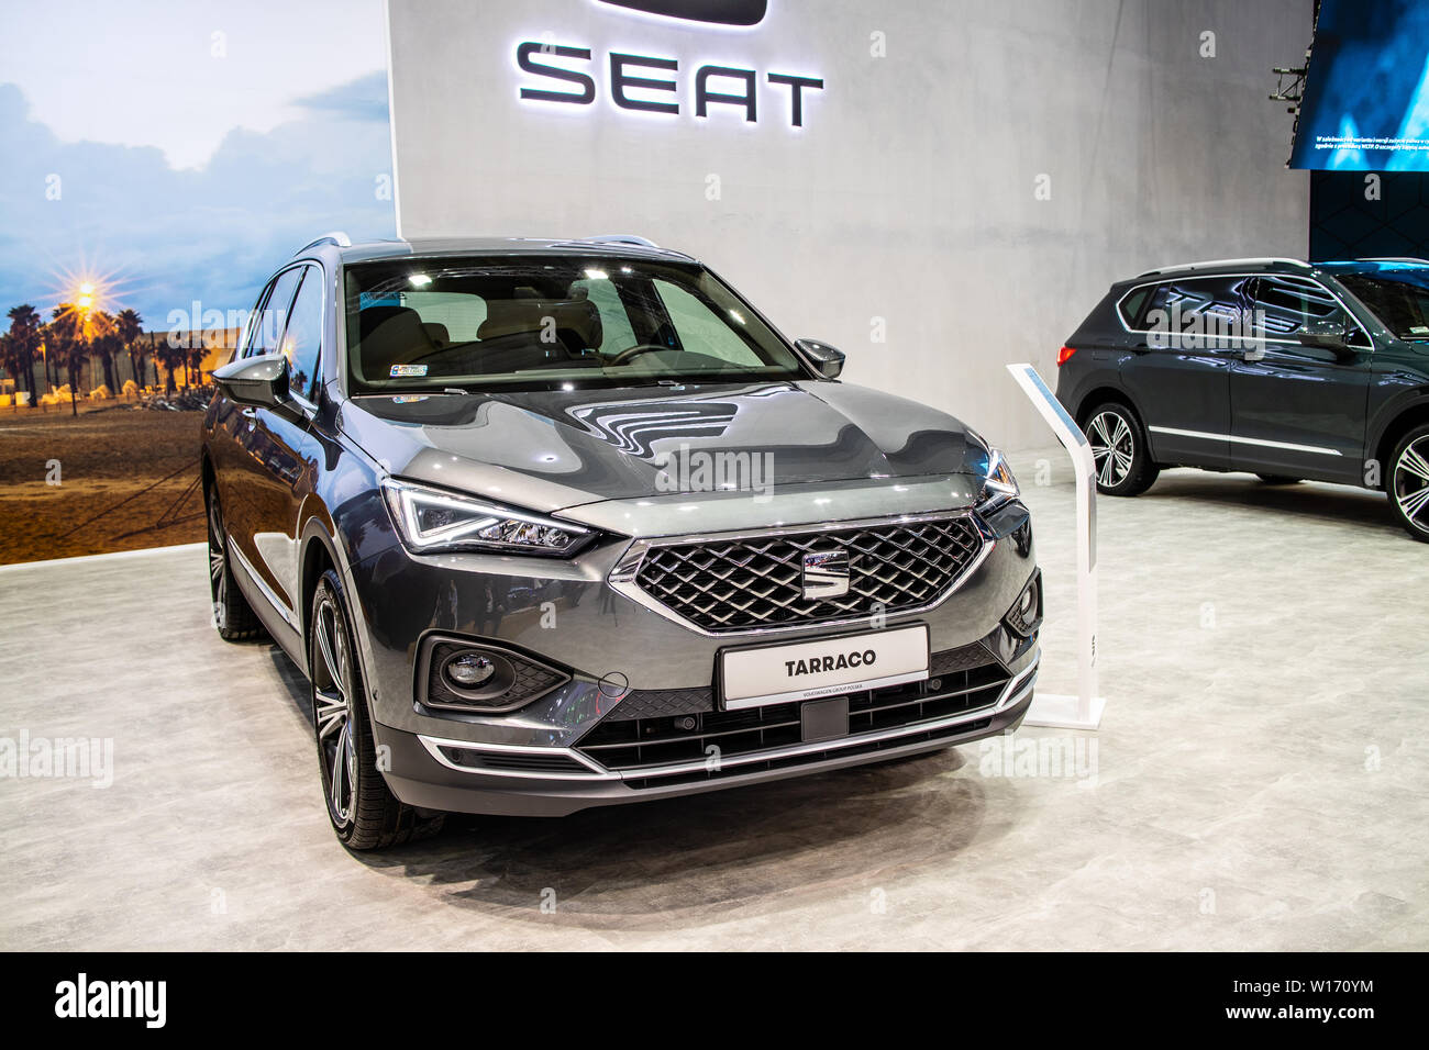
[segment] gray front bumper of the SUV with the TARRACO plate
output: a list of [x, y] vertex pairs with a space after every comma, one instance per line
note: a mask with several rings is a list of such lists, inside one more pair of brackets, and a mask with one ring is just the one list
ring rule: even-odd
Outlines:
[[[972, 653], [975, 663], [1000, 676], [996, 689], [983, 683], [976, 703], [957, 709], [956, 699], [925, 683], [912, 699], [892, 701], [916, 703], [910, 710], [926, 717], [899, 724], [870, 717], [857, 729], [850, 720], [847, 736], [813, 743], [802, 741], [796, 726], [792, 740], [772, 733], [772, 746], [725, 754], [713, 769], [697, 753], [693, 760], [620, 767], [602, 760], [609, 751], [583, 750], [602, 723], [717, 711], [712, 681], [719, 650], [762, 640], [692, 630], [612, 587], [609, 577], [630, 540], [604, 543], [570, 561], [534, 564], [384, 550], [352, 566], [349, 593], [373, 731], [389, 749], [387, 781], [399, 799], [422, 809], [560, 816], [880, 761], [1015, 727], [1030, 703], [1039, 654], [1035, 633], [1022, 637], [1005, 623], [1036, 571], [1026, 511], [1020, 504], [1009, 510], [1005, 521], [987, 524], [987, 549], [946, 600], [886, 617], [887, 627], [926, 623], [935, 656]], [[797, 627], [777, 640], [829, 633], [827, 624]], [[420, 656], [436, 634], [507, 646], [567, 670], [570, 680], [510, 714], [423, 707]], [[879, 693], [886, 690], [850, 704], [876, 701]], [[797, 711], [792, 717], [797, 720]]]

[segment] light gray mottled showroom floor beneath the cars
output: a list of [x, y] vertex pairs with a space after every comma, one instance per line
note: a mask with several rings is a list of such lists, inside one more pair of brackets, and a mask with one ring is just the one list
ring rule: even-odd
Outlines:
[[[1037, 459], [1069, 691], [1072, 489]], [[292, 666], [210, 630], [201, 551], [0, 571], [0, 739], [114, 741], [110, 787], [0, 780], [0, 947], [1429, 947], [1429, 547], [1383, 497], [1248, 476], [1100, 511], [1095, 736], [376, 857], [327, 829]]]

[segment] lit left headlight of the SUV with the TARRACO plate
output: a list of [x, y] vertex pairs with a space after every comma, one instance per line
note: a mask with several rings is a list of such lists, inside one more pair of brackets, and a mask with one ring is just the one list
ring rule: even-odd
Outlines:
[[387, 479], [382, 493], [402, 540], [422, 554], [476, 550], [567, 557], [592, 536], [567, 521], [412, 481]]

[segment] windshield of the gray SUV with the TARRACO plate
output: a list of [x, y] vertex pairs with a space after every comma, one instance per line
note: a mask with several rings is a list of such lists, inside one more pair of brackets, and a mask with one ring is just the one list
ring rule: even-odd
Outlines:
[[634, 259], [404, 259], [347, 267], [353, 394], [806, 379], [703, 267]]

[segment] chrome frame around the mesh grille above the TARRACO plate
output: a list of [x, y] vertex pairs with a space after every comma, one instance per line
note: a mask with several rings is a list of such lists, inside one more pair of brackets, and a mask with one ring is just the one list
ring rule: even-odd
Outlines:
[[727, 533], [703, 533], [690, 536], [656, 536], [643, 540], [634, 540], [624, 553], [616, 561], [614, 569], [606, 576], [606, 583], [619, 594], [630, 599], [636, 604], [663, 616], [672, 623], [677, 623], [686, 630], [692, 630], [696, 634], [702, 634], [706, 639], [747, 639], [747, 637], [763, 637], [767, 634], [789, 634], [793, 631], [816, 631], [829, 630], [832, 627], [847, 627], [856, 623], [869, 623], [869, 616], [846, 616], [837, 620], [819, 620], [817, 623], [790, 623], [779, 624], [775, 627], [742, 627], [739, 630], [729, 631], [712, 631], [706, 627], [700, 627], [690, 620], [680, 616], [677, 611], [666, 606], [663, 601], [656, 600], [636, 583], [636, 576], [640, 571], [640, 563], [644, 561], [646, 553], [654, 547], [682, 547], [692, 543], [723, 543], [726, 540], [753, 540], [753, 539], [767, 539], [779, 536], [799, 536], [803, 533], [826, 533], [837, 531], [843, 529], [873, 529], [877, 526], [897, 526], [897, 524], [916, 524], [920, 521], [950, 521], [956, 519], [969, 519], [973, 527], [977, 530], [977, 536], [982, 537], [983, 546], [967, 563], [967, 567], [953, 580], [952, 586], [947, 587], [942, 594], [939, 594], [932, 601], [913, 609], [899, 609], [897, 611], [889, 613], [890, 617], [895, 616], [919, 616], [922, 613], [932, 611], [940, 604], [947, 601], [957, 590], [972, 579], [972, 576], [982, 567], [982, 563], [987, 560], [992, 554], [993, 547], [997, 541], [987, 534], [987, 529], [983, 523], [973, 514], [972, 510], [943, 510], [926, 514], [900, 514], [897, 517], [872, 517], [872, 519], [857, 519], [853, 521], [820, 521], [812, 524], [797, 524], [797, 526], [779, 526], [776, 529], [750, 529], [740, 531]]

